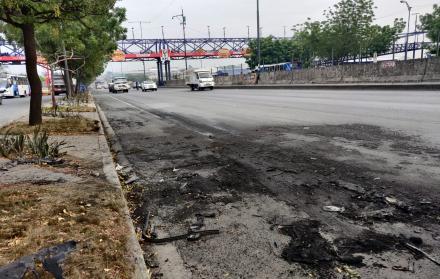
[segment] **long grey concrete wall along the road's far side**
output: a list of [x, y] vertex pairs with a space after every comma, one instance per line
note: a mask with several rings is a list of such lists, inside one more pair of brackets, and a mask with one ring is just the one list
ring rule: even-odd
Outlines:
[[[440, 58], [350, 64], [262, 73], [259, 84], [397, 83], [440, 81]], [[216, 77], [218, 85], [255, 84], [255, 74]]]

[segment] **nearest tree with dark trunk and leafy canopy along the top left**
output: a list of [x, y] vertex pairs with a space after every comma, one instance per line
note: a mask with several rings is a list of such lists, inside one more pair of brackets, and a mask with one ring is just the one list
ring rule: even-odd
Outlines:
[[106, 15], [116, 0], [0, 0], [0, 20], [21, 30], [26, 72], [31, 86], [29, 124], [42, 123], [42, 86], [37, 71], [35, 28], [53, 22], [81, 21], [92, 15]]

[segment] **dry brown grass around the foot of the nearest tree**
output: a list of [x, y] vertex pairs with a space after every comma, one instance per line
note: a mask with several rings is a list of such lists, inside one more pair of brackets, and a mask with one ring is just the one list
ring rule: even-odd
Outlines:
[[[27, 122], [15, 122], [8, 126], [0, 128], [0, 134], [9, 131], [10, 134], [31, 134], [35, 127], [31, 127]], [[73, 116], [66, 118], [44, 118], [41, 129], [51, 135], [72, 135], [87, 134], [99, 131], [99, 121], [85, 118], [82, 116]]]

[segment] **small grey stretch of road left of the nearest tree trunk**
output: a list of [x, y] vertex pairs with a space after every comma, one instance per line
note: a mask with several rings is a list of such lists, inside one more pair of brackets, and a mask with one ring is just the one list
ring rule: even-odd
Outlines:
[[25, 116], [29, 112], [30, 97], [3, 99], [0, 106], [0, 126]]

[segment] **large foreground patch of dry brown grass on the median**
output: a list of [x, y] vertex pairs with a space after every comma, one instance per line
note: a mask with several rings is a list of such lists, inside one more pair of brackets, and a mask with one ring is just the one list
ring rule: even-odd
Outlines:
[[0, 185], [0, 266], [75, 240], [77, 249], [63, 267], [66, 278], [130, 278], [122, 208], [120, 190], [102, 182]]

